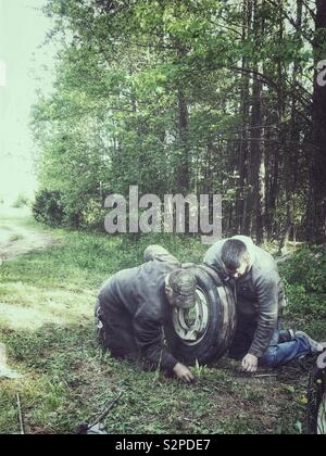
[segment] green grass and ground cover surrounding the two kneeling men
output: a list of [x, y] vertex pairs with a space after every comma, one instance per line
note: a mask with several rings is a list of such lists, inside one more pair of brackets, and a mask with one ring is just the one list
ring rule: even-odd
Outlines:
[[[124, 394], [105, 420], [110, 433], [304, 431], [306, 365], [283, 369], [277, 378], [252, 379], [223, 359], [213, 368], [193, 368], [198, 382], [186, 387], [159, 372], [145, 372], [135, 363], [115, 360], [96, 345], [93, 303], [110, 275], [140, 263], [151, 242], [164, 244], [185, 262], [199, 262], [205, 246], [176, 237], [53, 236], [61, 242], [0, 269], [0, 340], [11, 367], [24, 375], [23, 380], [0, 380], [0, 433], [20, 432], [16, 393], [26, 432], [68, 433], [100, 415], [120, 391]], [[325, 290], [315, 290], [308, 313], [314, 280], [300, 278], [299, 283], [296, 262], [283, 271], [291, 301], [287, 318], [326, 337]]]

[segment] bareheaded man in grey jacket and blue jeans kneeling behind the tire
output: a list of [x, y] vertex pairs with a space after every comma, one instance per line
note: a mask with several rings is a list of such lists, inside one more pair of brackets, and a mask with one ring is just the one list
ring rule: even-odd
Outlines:
[[230, 356], [246, 371], [277, 367], [324, 349], [304, 332], [281, 331], [286, 305], [278, 267], [250, 238], [236, 236], [214, 244], [204, 263], [225, 280], [235, 280], [238, 326]]

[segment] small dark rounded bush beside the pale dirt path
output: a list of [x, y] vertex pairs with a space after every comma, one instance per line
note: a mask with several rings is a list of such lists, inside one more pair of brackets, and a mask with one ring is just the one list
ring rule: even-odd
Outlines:
[[64, 219], [64, 211], [60, 192], [41, 190], [37, 193], [33, 204], [33, 215], [41, 224], [50, 227], [61, 226]]

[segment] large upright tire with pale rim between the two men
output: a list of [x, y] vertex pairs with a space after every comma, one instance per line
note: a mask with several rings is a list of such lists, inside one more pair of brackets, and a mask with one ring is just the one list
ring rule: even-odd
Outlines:
[[230, 286], [222, 283], [206, 266], [190, 266], [197, 278], [197, 304], [174, 308], [164, 327], [173, 355], [187, 365], [210, 365], [229, 349], [236, 330], [236, 300]]

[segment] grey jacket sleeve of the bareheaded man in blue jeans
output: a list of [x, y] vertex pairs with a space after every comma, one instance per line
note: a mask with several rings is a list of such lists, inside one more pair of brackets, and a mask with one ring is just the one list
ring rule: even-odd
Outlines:
[[268, 349], [278, 325], [279, 275], [272, 271], [260, 277], [256, 283], [259, 320], [254, 340], [249, 353], [261, 358]]

